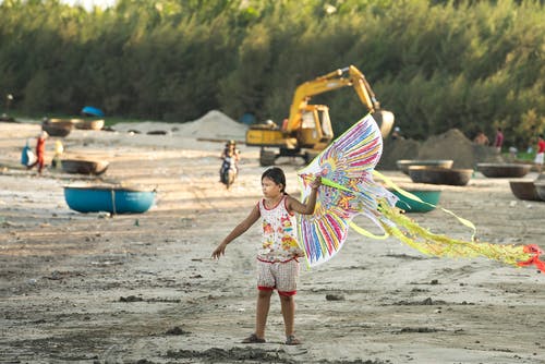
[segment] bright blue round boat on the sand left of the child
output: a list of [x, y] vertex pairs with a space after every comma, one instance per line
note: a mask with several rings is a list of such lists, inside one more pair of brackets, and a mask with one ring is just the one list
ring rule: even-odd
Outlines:
[[66, 204], [78, 213], [142, 214], [152, 207], [156, 194], [153, 189], [119, 185], [64, 186]]

